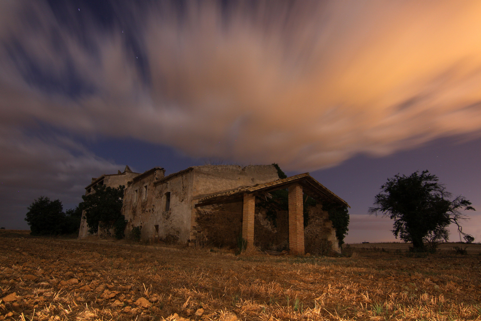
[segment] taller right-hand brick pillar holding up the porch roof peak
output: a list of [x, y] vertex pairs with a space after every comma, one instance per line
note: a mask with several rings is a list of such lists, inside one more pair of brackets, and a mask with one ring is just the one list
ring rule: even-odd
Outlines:
[[302, 186], [289, 186], [289, 253], [304, 255], [304, 202]]

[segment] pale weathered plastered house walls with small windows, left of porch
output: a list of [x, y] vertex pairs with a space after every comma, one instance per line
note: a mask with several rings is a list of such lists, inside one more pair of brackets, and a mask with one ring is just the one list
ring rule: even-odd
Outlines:
[[[153, 172], [144, 174], [134, 179], [124, 194], [122, 214], [128, 221], [127, 235], [133, 227], [141, 227], [142, 240], [181, 244], [195, 240], [196, 198], [278, 179], [277, 169], [272, 165], [196, 166], [165, 178], [154, 177]], [[170, 201], [166, 210], [168, 193]], [[224, 228], [237, 229], [241, 225]]]

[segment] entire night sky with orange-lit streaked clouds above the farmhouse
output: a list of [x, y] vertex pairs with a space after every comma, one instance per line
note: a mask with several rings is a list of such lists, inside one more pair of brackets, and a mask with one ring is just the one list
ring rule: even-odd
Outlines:
[[481, 2], [138, 2], [0, 2], [2, 227], [126, 165], [310, 172], [348, 243], [396, 241], [367, 209], [397, 173], [481, 208]]

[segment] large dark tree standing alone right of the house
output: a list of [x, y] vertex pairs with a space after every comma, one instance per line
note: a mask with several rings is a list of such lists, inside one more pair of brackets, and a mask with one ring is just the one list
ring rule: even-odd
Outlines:
[[415, 251], [425, 251], [424, 243], [434, 250], [441, 240], [447, 241], [447, 227], [454, 223], [465, 239], [471, 235], [462, 231], [460, 220], [468, 219], [461, 210], [475, 210], [464, 196], [450, 200], [452, 194], [428, 170], [410, 176], [395, 175], [381, 186], [382, 192], [374, 199], [369, 214], [382, 213], [394, 220], [394, 236], [412, 242]]

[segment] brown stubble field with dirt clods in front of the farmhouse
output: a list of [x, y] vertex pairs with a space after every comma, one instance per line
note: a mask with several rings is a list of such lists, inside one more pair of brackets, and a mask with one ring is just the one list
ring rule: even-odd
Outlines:
[[481, 320], [481, 245], [405, 245], [273, 257], [0, 237], [0, 320]]

